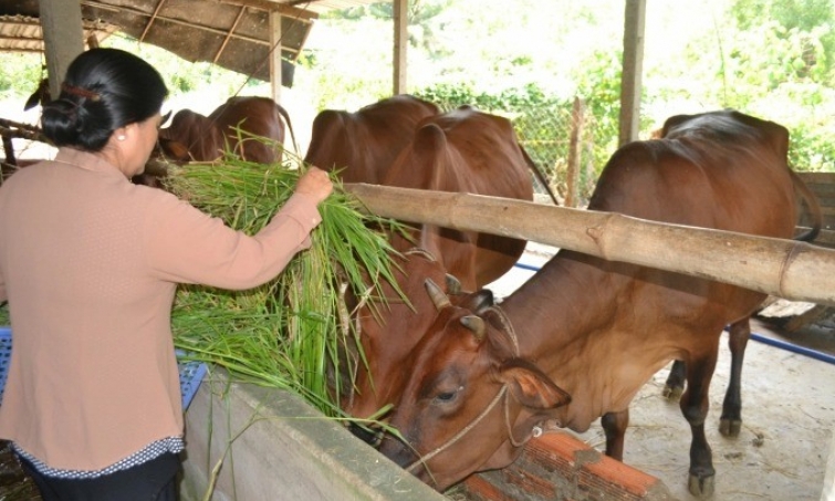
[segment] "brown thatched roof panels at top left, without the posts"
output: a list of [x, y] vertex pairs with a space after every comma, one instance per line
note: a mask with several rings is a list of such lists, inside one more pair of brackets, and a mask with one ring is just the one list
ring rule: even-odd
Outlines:
[[[378, 0], [95, 0], [81, 1], [84, 39], [121, 31], [196, 62], [208, 61], [269, 81], [270, 11], [281, 13], [284, 85], [320, 13]], [[38, 0], [0, 0], [0, 51], [43, 51]]]

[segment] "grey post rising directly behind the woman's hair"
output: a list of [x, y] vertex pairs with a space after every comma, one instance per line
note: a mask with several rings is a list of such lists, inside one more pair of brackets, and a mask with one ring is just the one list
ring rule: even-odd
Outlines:
[[84, 27], [81, 3], [67, 0], [41, 0], [41, 30], [46, 53], [50, 95], [61, 94], [61, 82], [70, 63], [84, 52]]

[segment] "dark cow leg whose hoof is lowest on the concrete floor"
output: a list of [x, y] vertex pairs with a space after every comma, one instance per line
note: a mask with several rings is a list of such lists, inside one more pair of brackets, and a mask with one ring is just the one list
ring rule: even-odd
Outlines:
[[714, 345], [710, 353], [691, 359], [687, 364], [687, 389], [679, 401], [681, 414], [690, 424], [692, 432], [688, 488], [696, 497], [708, 497], [713, 493], [716, 470], [710, 445], [704, 435], [704, 419], [710, 407], [708, 390], [716, 368], [717, 348], [718, 346]]

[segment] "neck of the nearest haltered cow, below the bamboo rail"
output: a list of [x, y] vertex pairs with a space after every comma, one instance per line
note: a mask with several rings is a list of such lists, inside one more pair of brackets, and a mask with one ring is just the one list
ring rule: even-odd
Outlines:
[[601, 334], [628, 293], [627, 282], [605, 270], [603, 260], [557, 254], [501, 303], [518, 333], [520, 356], [572, 395], [551, 419], [576, 431], [610, 408], [608, 389], [619, 380], [618, 365], [599, 362], [610, 349]]

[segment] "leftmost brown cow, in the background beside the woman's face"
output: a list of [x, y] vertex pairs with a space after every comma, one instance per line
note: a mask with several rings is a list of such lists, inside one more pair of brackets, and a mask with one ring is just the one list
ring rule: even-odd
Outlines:
[[180, 109], [168, 127], [159, 129], [159, 143], [164, 155], [175, 161], [212, 161], [228, 149], [248, 161], [273, 164], [281, 161], [282, 150], [250, 136], [282, 145], [282, 118], [293, 135], [290, 116], [273, 100], [233, 96], [209, 116]]

